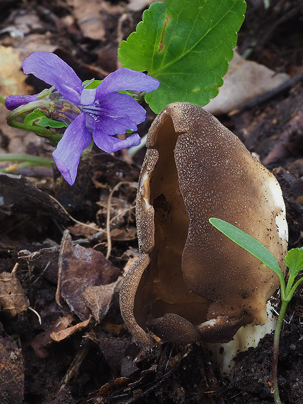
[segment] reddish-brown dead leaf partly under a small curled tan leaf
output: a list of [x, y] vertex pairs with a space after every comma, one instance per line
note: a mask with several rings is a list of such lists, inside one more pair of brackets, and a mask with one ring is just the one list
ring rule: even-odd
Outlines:
[[74, 321], [74, 316], [68, 314], [65, 317], [59, 317], [54, 324], [46, 331], [40, 332], [36, 335], [30, 342], [31, 346], [34, 348], [36, 355], [39, 358], [46, 358], [48, 356], [47, 350], [44, 346], [54, 342], [51, 338], [51, 334], [58, 333], [61, 330], [66, 329]]

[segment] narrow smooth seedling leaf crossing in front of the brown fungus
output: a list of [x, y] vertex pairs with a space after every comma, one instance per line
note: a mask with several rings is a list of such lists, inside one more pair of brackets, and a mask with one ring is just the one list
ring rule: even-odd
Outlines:
[[216, 229], [221, 231], [221, 233], [225, 234], [233, 242], [240, 245], [240, 247], [250, 252], [251, 255], [258, 258], [263, 264], [272, 269], [279, 276], [280, 281], [284, 279], [283, 272], [279, 267], [276, 257], [263, 244], [256, 240], [256, 238], [251, 237], [243, 230], [240, 230], [238, 227], [225, 220], [211, 218], [209, 221]]

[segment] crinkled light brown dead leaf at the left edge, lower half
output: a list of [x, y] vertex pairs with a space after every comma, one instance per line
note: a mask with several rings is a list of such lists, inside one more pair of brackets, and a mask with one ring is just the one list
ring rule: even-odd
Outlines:
[[19, 279], [10, 272], [0, 274], [0, 305], [13, 317], [28, 308], [28, 301]]

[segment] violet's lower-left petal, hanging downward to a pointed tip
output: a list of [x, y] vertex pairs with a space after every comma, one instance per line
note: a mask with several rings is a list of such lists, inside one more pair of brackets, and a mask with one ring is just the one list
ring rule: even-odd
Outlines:
[[91, 134], [86, 129], [85, 114], [82, 112], [65, 130], [53, 152], [58, 170], [70, 185], [76, 180], [81, 153], [90, 141]]

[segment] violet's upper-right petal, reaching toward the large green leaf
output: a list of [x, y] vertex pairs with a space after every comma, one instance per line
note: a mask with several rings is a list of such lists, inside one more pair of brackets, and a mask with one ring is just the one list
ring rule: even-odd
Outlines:
[[132, 90], [150, 92], [157, 90], [160, 81], [144, 73], [121, 68], [110, 73], [96, 88], [96, 99], [113, 91]]

